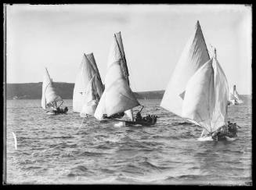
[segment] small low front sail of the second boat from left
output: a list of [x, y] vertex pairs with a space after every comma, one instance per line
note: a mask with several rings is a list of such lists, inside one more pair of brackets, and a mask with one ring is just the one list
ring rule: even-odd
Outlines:
[[80, 116], [85, 117], [86, 114], [93, 116], [98, 105], [99, 100], [96, 98], [97, 91], [95, 88], [96, 75], [94, 75], [88, 84], [83, 95], [84, 103], [81, 109]]

